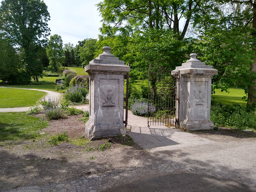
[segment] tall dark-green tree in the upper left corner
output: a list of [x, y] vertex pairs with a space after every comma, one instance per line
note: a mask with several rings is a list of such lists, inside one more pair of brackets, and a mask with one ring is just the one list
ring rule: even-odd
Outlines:
[[24, 65], [30, 76], [38, 80], [42, 65], [38, 60], [38, 47], [49, 35], [49, 13], [41, 0], [3, 0], [0, 6], [0, 31], [12, 43], [22, 47]]

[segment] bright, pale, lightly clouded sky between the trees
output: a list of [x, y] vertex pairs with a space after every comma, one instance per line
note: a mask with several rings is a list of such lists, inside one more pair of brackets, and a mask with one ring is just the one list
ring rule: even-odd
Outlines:
[[50, 34], [58, 34], [63, 44], [97, 38], [101, 17], [96, 3], [101, 0], [43, 0], [48, 7]]

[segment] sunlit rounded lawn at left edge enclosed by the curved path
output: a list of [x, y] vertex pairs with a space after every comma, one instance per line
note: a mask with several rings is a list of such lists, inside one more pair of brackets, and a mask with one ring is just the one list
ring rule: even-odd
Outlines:
[[45, 94], [37, 90], [0, 87], [0, 108], [32, 106]]

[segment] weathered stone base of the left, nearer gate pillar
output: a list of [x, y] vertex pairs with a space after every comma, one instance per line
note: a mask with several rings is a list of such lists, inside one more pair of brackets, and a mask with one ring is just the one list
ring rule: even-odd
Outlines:
[[101, 124], [94, 126], [90, 120], [85, 124], [85, 134], [88, 136], [88, 139], [94, 140], [106, 136], [116, 136], [116, 135], [125, 135], [126, 128], [122, 124]]

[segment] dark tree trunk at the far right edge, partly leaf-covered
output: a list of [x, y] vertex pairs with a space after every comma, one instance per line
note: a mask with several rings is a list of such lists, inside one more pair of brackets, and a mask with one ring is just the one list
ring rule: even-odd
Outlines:
[[[252, 19], [252, 28], [256, 29], [256, 0], [253, 3], [253, 19]], [[256, 34], [252, 34], [253, 39], [256, 39]], [[253, 43], [253, 50], [256, 51], [256, 43]], [[250, 72], [251, 74], [256, 72], [256, 53], [255, 58], [253, 59], [253, 63], [250, 64]], [[248, 86], [248, 100], [247, 106], [249, 108], [255, 108], [256, 106], [256, 79], [251, 77], [251, 85]]]

